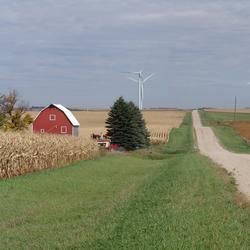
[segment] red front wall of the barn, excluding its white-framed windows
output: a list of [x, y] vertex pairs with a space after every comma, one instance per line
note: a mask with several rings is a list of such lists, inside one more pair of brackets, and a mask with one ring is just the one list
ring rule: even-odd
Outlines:
[[[55, 121], [49, 120], [50, 114], [56, 115]], [[45, 133], [62, 134], [61, 126], [67, 127], [67, 133], [65, 134], [72, 135], [72, 125], [65, 114], [55, 107], [48, 107], [43, 110], [34, 121], [33, 131], [35, 133], [40, 133], [41, 129], [44, 129]]]

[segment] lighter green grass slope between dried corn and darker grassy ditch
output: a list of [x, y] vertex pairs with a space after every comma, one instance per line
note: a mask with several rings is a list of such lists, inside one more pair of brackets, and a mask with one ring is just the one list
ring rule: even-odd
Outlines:
[[64, 249], [87, 240], [159, 167], [112, 155], [0, 181], [0, 249]]

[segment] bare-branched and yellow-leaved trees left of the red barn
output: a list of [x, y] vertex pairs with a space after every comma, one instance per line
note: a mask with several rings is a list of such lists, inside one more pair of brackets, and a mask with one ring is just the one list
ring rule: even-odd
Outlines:
[[15, 90], [0, 95], [0, 129], [5, 131], [27, 129], [33, 118], [26, 111], [27, 105], [20, 100]]

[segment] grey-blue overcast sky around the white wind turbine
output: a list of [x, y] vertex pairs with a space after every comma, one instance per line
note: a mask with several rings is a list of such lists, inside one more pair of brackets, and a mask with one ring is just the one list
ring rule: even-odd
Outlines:
[[250, 106], [249, 0], [0, 0], [0, 92], [30, 105]]

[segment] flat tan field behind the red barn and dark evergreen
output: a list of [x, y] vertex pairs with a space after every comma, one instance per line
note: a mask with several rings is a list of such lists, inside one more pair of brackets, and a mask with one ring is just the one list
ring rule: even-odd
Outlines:
[[[30, 112], [36, 117], [38, 112]], [[146, 110], [143, 116], [151, 134], [152, 142], [166, 142], [168, 133], [172, 128], [180, 126], [185, 111], [182, 110]], [[73, 111], [80, 122], [80, 136], [89, 137], [92, 133], [106, 133], [105, 120], [108, 110]]]

